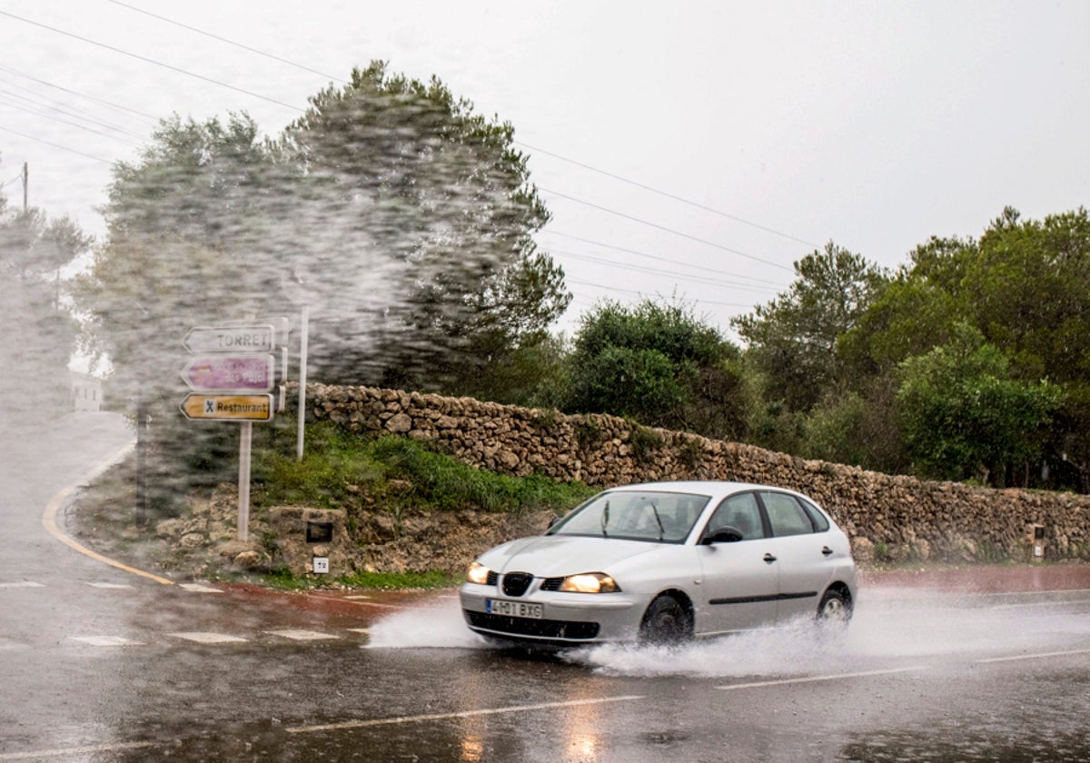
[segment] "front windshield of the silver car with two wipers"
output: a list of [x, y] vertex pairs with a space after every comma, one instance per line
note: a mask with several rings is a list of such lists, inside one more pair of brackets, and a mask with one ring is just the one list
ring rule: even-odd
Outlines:
[[708, 499], [691, 493], [602, 493], [558, 522], [548, 534], [683, 543]]

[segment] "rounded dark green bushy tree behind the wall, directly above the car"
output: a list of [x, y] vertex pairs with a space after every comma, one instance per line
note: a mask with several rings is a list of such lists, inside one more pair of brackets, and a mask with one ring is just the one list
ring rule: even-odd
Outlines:
[[582, 316], [566, 409], [738, 437], [744, 400], [738, 350], [679, 303], [606, 301]]

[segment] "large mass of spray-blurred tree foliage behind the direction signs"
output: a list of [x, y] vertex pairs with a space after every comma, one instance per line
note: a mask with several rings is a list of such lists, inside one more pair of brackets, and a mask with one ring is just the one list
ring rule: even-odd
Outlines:
[[114, 167], [106, 240], [74, 296], [112, 396], [150, 422], [164, 510], [182, 483], [231, 469], [217, 456], [234, 427], [178, 412], [192, 327], [307, 304], [312, 380], [439, 391], [495, 389], [547, 351], [570, 294], [535, 249], [548, 213], [512, 140], [437, 78], [373, 63], [276, 140], [244, 113], [175, 116]]

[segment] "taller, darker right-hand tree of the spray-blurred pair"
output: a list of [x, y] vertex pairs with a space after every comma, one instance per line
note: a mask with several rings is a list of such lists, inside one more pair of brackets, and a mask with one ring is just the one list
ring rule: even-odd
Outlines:
[[382, 320], [371, 342], [332, 331], [327, 377], [457, 387], [544, 339], [571, 296], [532, 239], [549, 216], [513, 134], [438, 78], [391, 76], [380, 62], [314, 96], [284, 131], [278, 161], [308, 179], [323, 210], [304, 220], [307, 240], [331, 256], [379, 254], [387, 280], [351, 295], [346, 310]]

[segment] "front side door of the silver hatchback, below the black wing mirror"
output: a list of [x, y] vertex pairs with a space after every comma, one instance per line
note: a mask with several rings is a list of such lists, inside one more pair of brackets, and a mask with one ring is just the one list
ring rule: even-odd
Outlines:
[[768, 625], [776, 618], [779, 591], [776, 541], [767, 537], [755, 493], [730, 496], [712, 514], [704, 535], [730, 525], [742, 540], [697, 546], [703, 579], [697, 590], [698, 633], [726, 633]]

